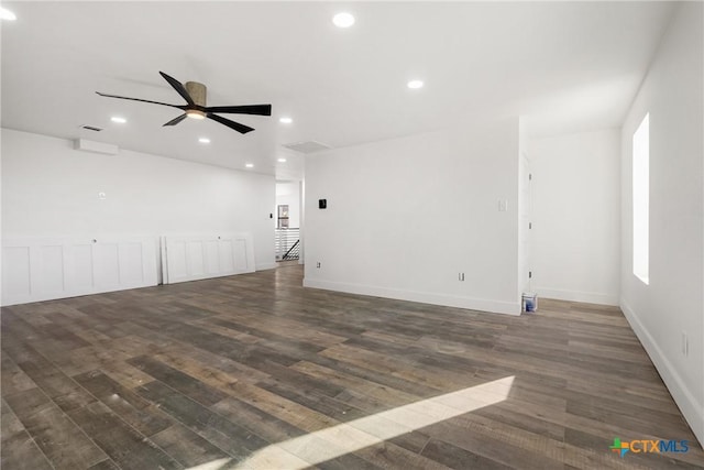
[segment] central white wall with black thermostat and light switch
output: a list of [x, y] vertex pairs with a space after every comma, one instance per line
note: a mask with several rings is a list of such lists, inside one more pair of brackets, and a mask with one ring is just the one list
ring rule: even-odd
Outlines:
[[519, 314], [517, 181], [517, 119], [308, 155], [305, 285]]

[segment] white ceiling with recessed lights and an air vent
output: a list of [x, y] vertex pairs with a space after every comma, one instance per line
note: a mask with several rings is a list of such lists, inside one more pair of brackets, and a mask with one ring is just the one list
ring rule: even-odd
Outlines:
[[[620, 125], [671, 2], [3, 2], [2, 127], [301, 176], [283, 144], [332, 147], [482, 116], [525, 116], [532, 135]], [[349, 11], [354, 26], [331, 18]], [[162, 124], [183, 103], [162, 79], [208, 86], [208, 105], [273, 116]], [[406, 88], [411, 78], [426, 86]], [[110, 122], [122, 116], [127, 124]], [[289, 116], [292, 124], [278, 118]], [[82, 124], [105, 128], [100, 133]], [[198, 143], [208, 136], [211, 144]], [[277, 159], [286, 157], [285, 164]]]

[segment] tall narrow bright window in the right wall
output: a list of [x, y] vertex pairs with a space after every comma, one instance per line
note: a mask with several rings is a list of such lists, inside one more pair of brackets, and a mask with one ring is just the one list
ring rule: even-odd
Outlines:
[[634, 133], [634, 274], [648, 284], [650, 228], [650, 114]]

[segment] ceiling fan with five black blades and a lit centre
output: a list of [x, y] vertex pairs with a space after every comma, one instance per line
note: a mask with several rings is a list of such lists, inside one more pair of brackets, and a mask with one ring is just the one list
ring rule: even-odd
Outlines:
[[185, 100], [186, 105], [169, 105], [167, 102], [158, 102], [158, 101], [150, 101], [148, 99], [140, 99], [140, 98], [128, 98], [124, 96], [117, 95], [107, 95], [101, 94], [100, 91], [96, 91], [100, 96], [105, 96], [108, 98], [119, 98], [119, 99], [129, 99], [132, 101], [142, 101], [142, 102], [151, 102], [153, 105], [162, 105], [169, 106], [172, 108], [178, 108], [185, 111], [177, 118], [172, 119], [164, 125], [176, 125], [180, 121], [186, 118], [194, 119], [212, 119], [216, 122], [220, 122], [221, 124], [227, 125], [230, 129], [234, 129], [235, 131], [245, 134], [248, 132], [253, 131], [253, 128], [249, 125], [241, 124], [239, 122], [231, 121], [221, 116], [216, 114], [216, 112], [224, 112], [232, 114], [257, 114], [257, 116], [272, 116], [272, 105], [248, 105], [248, 106], [206, 106], [206, 86], [204, 84], [199, 84], [197, 81], [186, 81], [186, 86], [184, 86], [180, 81], [175, 79], [174, 77], [169, 77], [168, 75], [160, 72], [162, 77]]

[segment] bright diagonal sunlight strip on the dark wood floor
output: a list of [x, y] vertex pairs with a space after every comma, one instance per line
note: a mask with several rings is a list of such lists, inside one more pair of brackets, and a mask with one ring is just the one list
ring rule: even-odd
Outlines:
[[[416, 429], [505, 401], [514, 376], [433, 396], [273, 444], [237, 463], [237, 469], [305, 469]], [[229, 468], [229, 467], [227, 467]], [[197, 467], [201, 470], [201, 467]], [[210, 470], [202, 467], [202, 470]]]

